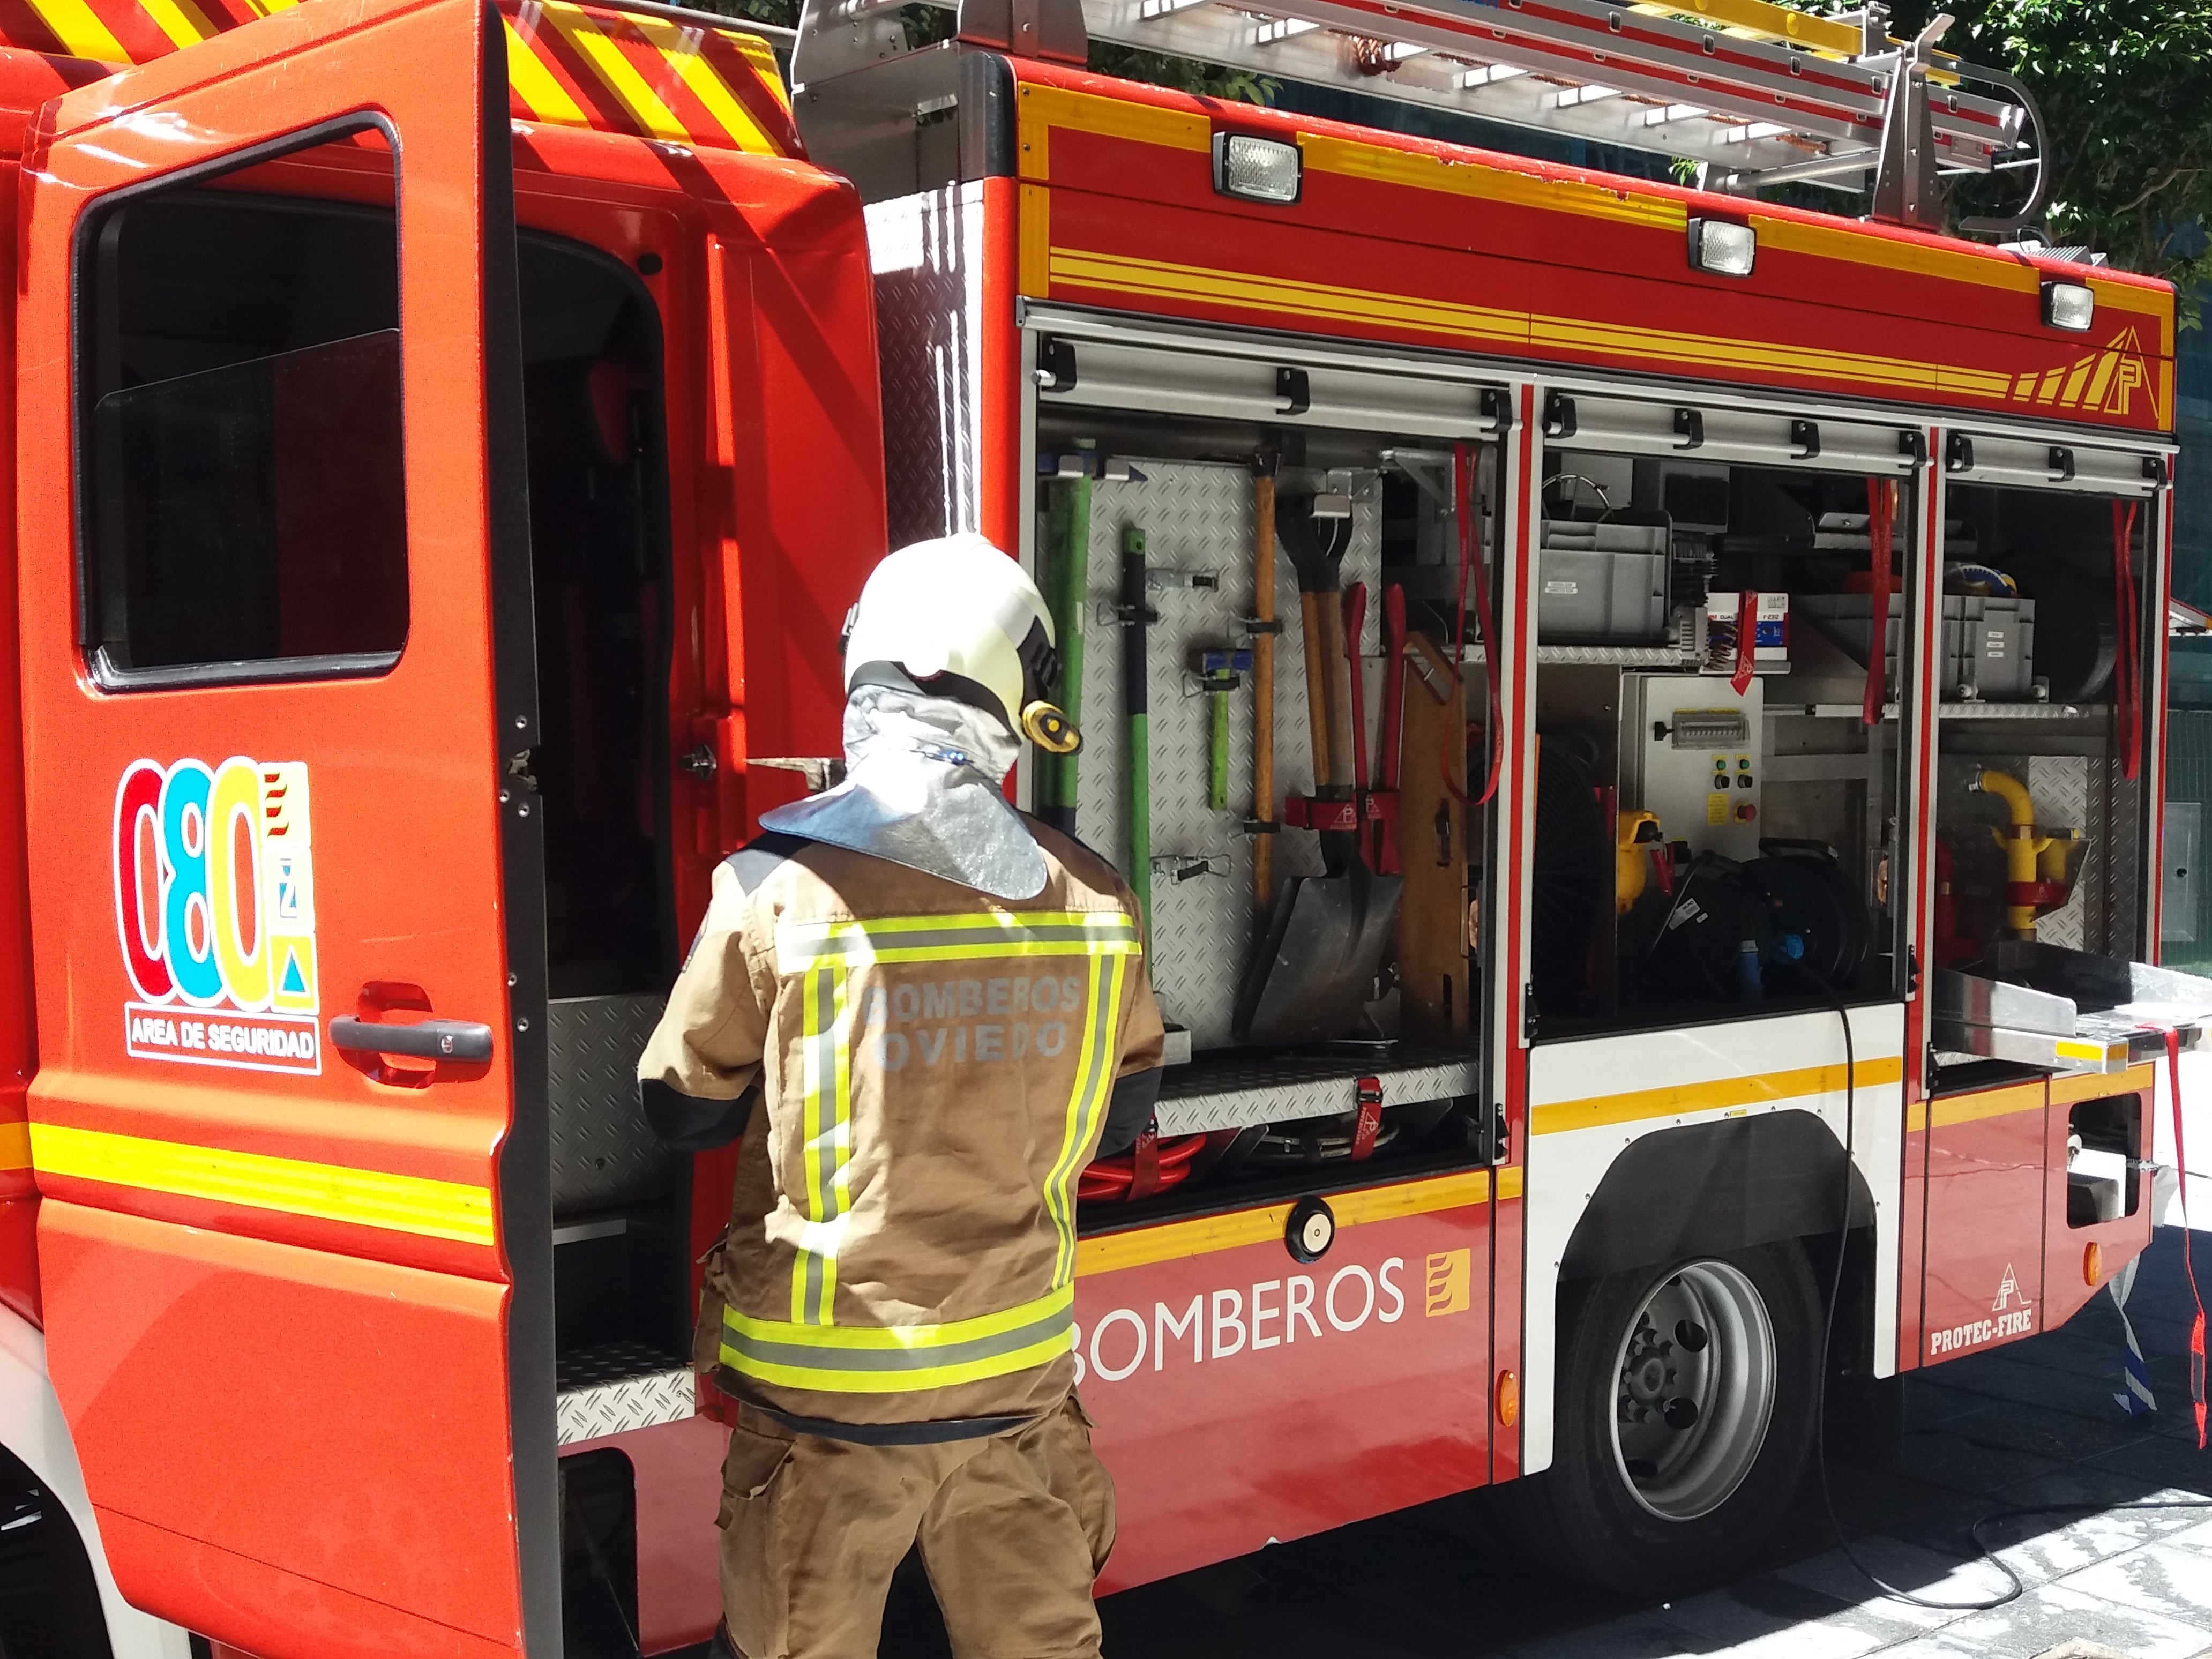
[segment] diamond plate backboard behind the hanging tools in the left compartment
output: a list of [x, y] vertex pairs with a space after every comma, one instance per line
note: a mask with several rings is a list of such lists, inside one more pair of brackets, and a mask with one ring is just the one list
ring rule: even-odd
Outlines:
[[[1230, 1042], [1237, 989], [1252, 960], [1252, 843], [1243, 821], [1252, 814], [1252, 688], [1230, 692], [1230, 803], [1206, 805], [1206, 745], [1210, 708], [1190, 672], [1201, 646], [1241, 641], [1239, 617], [1252, 602], [1252, 473], [1243, 467], [1130, 460], [1141, 480], [1099, 482], [1091, 493], [1091, 606], [1084, 648], [1084, 752], [1077, 783], [1075, 830], [1119, 869], [1128, 867], [1126, 765], [1128, 723], [1121, 710], [1121, 630], [1113, 606], [1121, 582], [1121, 531], [1146, 531], [1155, 568], [1212, 573], [1214, 588], [1170, 586], [1152, 593], [1159, 622], [1150, 628], [1148, 695], [1152, 748], [1152, 989], [1168, 1020], [1190, 1029], [1192, 1048]], [[1383, 491], [1374, 473], [1358, 473], [1352, 507], [1352, 546], [1345, 584], [1367, 584], [1367, 624], [1360, 657], [1367, 684], [1369, 765], [1380, 719], [1380, 593]], [[1290, 560], [1276, 553], [1276, 617], [1283, 633], [1274, 648], [1274, 779], [1279, 796], [1314, 787], [1312, 739], [1305, 717], [1305, 635], [1298, 584]], [[1276, 885], [1318, 876], [1321, 852], [1312, 834], [1274, 836]], [[1206, 865], [1206, 874], [1177, 880], [1175, 860]], [[1161, 867], [1161, 865], [1170, 867]], [[1336, 1110], [1336, 1108], [1327, 1108]]]

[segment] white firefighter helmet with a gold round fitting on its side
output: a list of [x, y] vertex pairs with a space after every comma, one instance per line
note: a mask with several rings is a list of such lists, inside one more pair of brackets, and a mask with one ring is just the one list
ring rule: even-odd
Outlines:
[[1051, 701], [1055, 644], [1044, 595], [1006, 553], [973, 533], [914, 542], [869, 573], [845, 619], [845, 690], [911, 686], [1068, 754], [1082, 737]]

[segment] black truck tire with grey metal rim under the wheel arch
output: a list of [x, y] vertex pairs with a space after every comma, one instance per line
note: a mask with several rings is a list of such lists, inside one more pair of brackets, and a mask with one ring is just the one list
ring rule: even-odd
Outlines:
[[1796, 1495], [1818, 1367], [1794, 1241], [1582, 1285], [1559, 1310], [1553, 1464], [1500, 1498], [1559, 1573], [1635, 1597], [1717, 1584]]

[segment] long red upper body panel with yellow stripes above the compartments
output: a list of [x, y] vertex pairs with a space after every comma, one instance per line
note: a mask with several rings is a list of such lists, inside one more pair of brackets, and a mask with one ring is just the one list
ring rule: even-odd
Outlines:
[[[2088, 338], [2037, 261], [1889, 226], [1018, 69], [1022, 292], [1115, 310], [2168, 431], [2172, 290], [2090, 272]], [[1287, 208], [1212, 188], [1212, 133], [1305, 153]], [[1692, 217], [1750, 221], [1750, 276], [1690, 270]], [[1387, 248], [1387, 252], [1385, 252]]]

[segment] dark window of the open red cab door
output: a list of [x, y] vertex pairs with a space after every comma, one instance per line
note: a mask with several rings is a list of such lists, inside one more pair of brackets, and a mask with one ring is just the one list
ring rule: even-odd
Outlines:
[[389, 668], [407, 639], [392, 210], [137, 195], [88, 223], [80, 296], [93, 677]]

